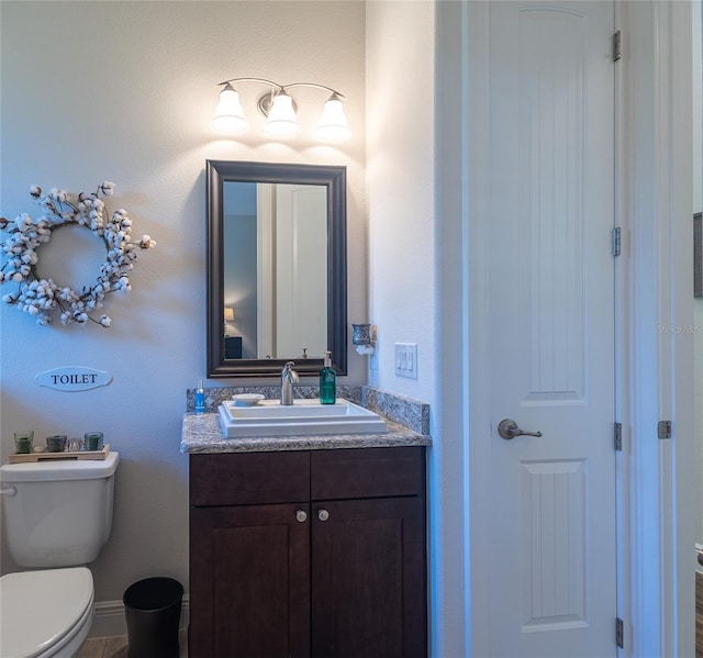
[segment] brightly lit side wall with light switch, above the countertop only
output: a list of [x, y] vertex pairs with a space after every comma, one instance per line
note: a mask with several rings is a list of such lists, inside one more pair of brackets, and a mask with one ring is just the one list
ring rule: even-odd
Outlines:
[[[366, 11], [368, 321], [378, 326], [377, 369], [371, 369], [370, 382], [431, 402], [436, 295], [434, 2], [375, 0], [367, 2]], [[395, 376], [395, 343], [417, 344], [417, 379]]]

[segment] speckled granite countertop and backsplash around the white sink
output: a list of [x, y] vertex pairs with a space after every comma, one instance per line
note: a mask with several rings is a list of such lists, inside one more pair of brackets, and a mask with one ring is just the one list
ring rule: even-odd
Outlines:
[[[302, 389], [302, 387], [301, 387]], [[212, 399], [208, 413], [192, 413], [192, 391], [188, 391], [189, 412], [183, 415], [180, 451], [207, 453], [271, 453], [282, 450], [331, 450], [342, 448], [380, 448], [432, 445], [429, 436], [429, 405], [408, 398], [386, 393], [370, 387], [358, 391], [345, 391], [347, 398], [358, 393], [362, 406], [371, 409], [386, 421], [386, 434], [337, 434], [320, 436], [268, 436], [252, 438], [224, 438], [217, 420], [219, 401], [232, 392], [257, 392], [254, 389], [210, 389]], [[261, 390], [261, 392], [265, 392]], [[301, 390], [300, 397], [314, 395], [314, 389]], [[352, 394], [348, 394], [352, 393]], [[401, 421], [401, 422], [398, 422]]]

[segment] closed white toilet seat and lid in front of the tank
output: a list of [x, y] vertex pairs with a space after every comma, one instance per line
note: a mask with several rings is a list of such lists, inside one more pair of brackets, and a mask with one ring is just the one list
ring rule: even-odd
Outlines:
[[68, 653], [71, 643], [82, 643], [90, 629], [92, 602], [86, 567], [7, 573], [0, 578], [0, 656], [70, 656], [80, 647]]

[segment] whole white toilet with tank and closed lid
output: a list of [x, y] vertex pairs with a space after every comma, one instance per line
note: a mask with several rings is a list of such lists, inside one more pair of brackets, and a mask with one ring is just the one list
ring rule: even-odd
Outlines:
[[82, 646], [93, 620], [85, 565], [112, 529], [119, 460], [109, 453], [0, 467], [5, 542], [33, 569], [0, 578], [0, 658], [69, 658]]

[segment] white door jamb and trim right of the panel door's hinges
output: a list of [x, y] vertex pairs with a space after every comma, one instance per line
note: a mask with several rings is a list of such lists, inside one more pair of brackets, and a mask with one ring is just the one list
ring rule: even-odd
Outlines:
[[[617, 2], [624, 656], [694, 654], [691, 3]], [[676, 71], [676, 75], [674, 73]], [[657, 437], [673, 422], [671, 439]], [[657, 621], [658, 623], [655, 623]]]

